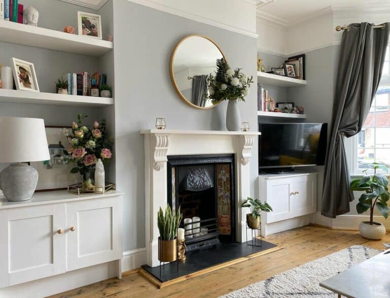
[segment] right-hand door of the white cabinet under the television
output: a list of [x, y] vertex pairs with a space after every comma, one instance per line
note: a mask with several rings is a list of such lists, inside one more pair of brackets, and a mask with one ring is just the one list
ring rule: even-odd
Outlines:
[[317, 176], [307, 175], [294, 178], [291, 204], [294, 217], [316, 212]]

